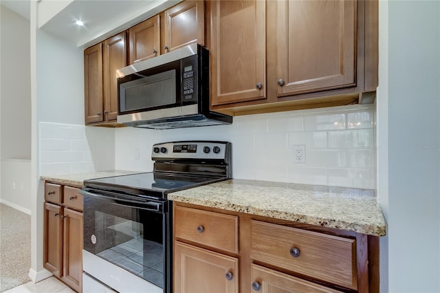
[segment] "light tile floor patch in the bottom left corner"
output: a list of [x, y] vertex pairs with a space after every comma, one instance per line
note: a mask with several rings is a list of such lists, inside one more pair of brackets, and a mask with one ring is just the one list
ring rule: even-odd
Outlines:
[[61, 281], [58, 281], [54, 276], [51, 276], [39, 283], [30, 281], [4, 293], [75, 293], [75, 291]]

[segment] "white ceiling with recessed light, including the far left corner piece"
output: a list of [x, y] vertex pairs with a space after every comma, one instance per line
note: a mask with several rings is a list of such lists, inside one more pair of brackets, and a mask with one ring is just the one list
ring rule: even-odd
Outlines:
[[[74, 0], [41, 26], [78, 47], [88, 47], [121, 32], [181, 0]], [[30, 19], [29, 0], [1, 0], [1, 4]], [[84, 21], [83, 27], [74, 20]]]

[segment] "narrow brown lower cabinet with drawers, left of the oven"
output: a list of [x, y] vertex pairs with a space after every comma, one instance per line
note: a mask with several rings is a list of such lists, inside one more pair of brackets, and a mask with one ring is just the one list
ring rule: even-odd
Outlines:
[[[59, 190], [61, 203], [51, 197]], [[43, 266], [67, 285], [83, 290], [83, 195], [79, 188], [45, 182]]]

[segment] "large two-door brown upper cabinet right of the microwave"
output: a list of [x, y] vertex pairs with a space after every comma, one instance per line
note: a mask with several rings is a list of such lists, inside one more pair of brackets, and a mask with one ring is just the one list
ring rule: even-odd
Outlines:
[[377, 87], [377, 1], [209, 3], [214, 111], [242, 115], [374, 97], [364, 93]]

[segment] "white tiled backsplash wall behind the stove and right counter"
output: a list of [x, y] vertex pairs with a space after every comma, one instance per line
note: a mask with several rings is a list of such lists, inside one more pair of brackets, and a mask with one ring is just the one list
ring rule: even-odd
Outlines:
[[[374, 121], [373, 105], [353, 105], [237, 116], [224, 126], [116, 129], [115, 167], [151, 171], [156, 142], [227, 140], [234, 178], [374, 189]], [[294, 144], [306, 146], [305, 164], [294, 164]]]

